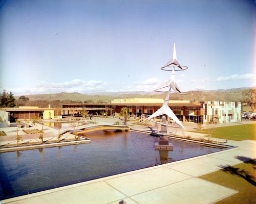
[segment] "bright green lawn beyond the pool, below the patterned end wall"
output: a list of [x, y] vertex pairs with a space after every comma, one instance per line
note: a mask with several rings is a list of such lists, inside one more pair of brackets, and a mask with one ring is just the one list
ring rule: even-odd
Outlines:
[[[208, 129], [190, 131], [208, 135]], [[256, 140], [256, 124], [233, 125], [226, 127], [214, 127], [211, 137], [227, 140]]]

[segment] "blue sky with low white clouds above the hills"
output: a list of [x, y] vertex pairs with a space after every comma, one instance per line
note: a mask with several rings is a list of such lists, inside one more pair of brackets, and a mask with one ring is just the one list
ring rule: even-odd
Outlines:
[[254, 0], [0, 0], [0, 91], [181, 91], [256, 86]]

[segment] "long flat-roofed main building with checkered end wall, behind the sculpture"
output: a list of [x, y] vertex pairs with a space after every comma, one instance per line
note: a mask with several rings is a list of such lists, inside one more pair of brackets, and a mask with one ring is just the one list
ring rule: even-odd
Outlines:
[[[112, 114], [118, 115], [126, 107], [130, 117], [139, 118], [142, 114], [151, 115], [161, 108], [162, 98], [118, 98], [110, 104], [61, 104], [62, 108], [109, 108]], [[168, 106], [182, 122], [208, 124], [211, 122], [235, 122], [242, 119], [240, 102], [201, 101], [191, 103], [188, 100], [169, 100]], [[95, 112], [94, 112], [95, 113]], [[93, 114], [94, 114], [93, 113]]]

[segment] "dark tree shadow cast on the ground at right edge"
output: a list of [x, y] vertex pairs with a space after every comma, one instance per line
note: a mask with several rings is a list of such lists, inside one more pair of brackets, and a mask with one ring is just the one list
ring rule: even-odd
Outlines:
[[[248, 157], [240, 157], [240, 156], [237, 156], [236, 158], [243, 161], [244, 163], [252, 164], [253, 169], [256, 168], [255, 160], [248, 158]], [[230, 173], [231, 175], [239, 176], [242, 179], [244, 179], [245, 181], [252, 184], [253, 186], [256, 186], [256, 182], [255, 182], [256, 178], [255, 178], [255, 176], [251, 175], [249, 171], [247, 171], [245, 169], [235, 168], [235, 167], [232, 167], [229, 165], [221, 165], [219, 167], [221, 168], [222, 171], [224, 171], [226, 173]]]

